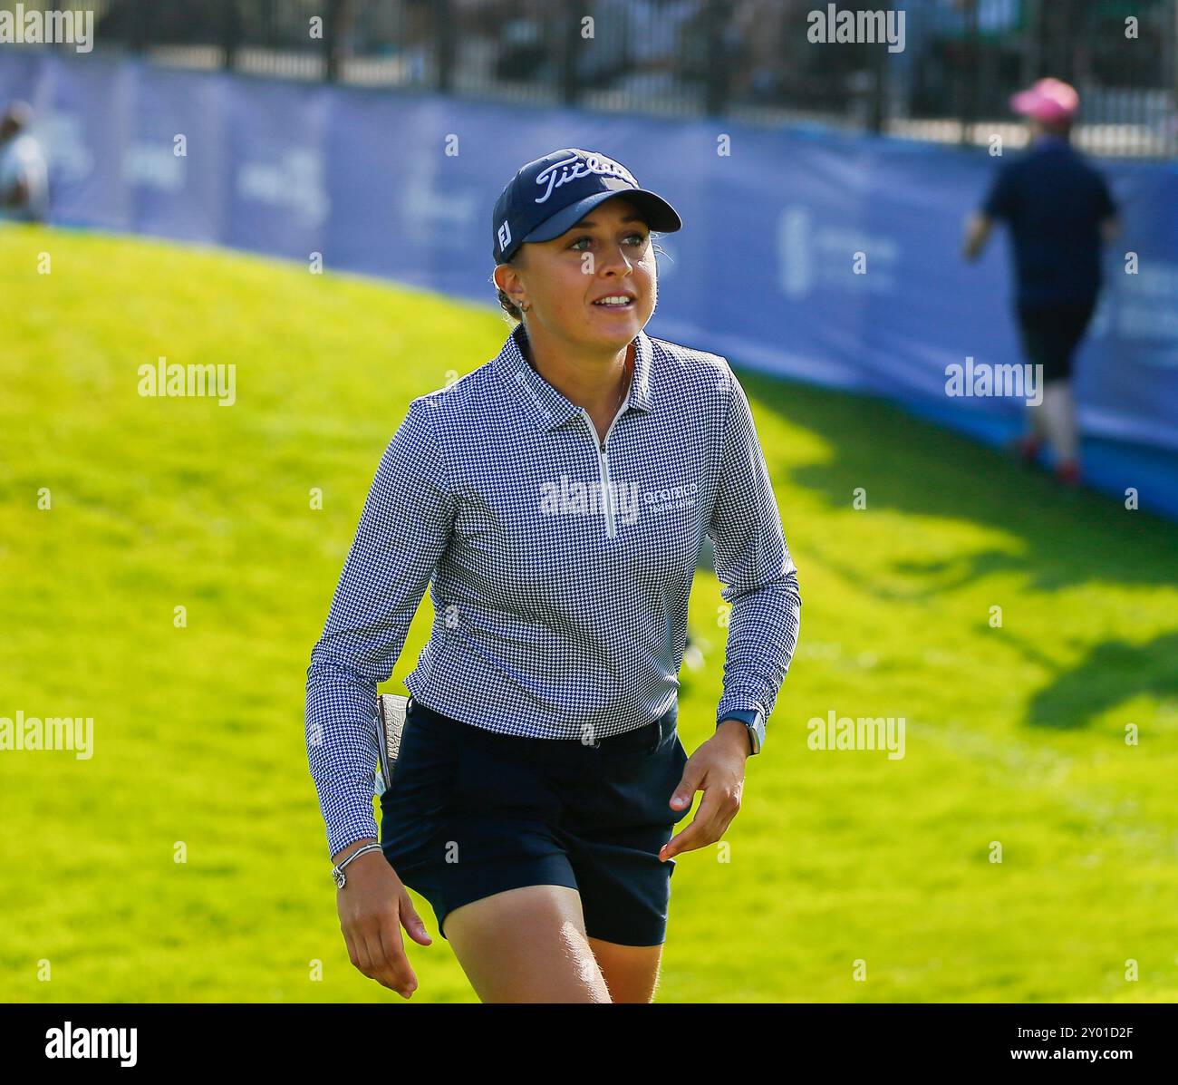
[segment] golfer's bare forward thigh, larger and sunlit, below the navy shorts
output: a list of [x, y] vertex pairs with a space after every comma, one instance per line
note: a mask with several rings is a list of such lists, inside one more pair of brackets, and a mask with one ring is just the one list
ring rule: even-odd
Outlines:
[[523, 886], [455, 908], [445, 933], [484, 1003], [608, 1003], [581, 894]]

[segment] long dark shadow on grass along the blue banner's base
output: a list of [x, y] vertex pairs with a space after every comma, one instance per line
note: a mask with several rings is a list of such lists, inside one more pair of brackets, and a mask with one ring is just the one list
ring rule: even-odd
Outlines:
[[[1178, 582], [1178, 528], [1169, 521], [1099, 494], [1063, 491], [1045, 472], [1020, 467], [1001, 450], [878, 397], [748, 371], [740, 379], [750, 398], [812, 430], [833, 450], [829, 461], [790, 468], [775, 465], [773, 449], [765, 450], [770, 471], [788, 472], [832, 509], [849, 509], [862, 487], [868, 510], [968, 521], [1020, 542], [1018, 554], [987, 548], [942, 562], [896, 564], [896, 574], [932, 577], [929, 591], [1012, 570], [1026, 574], [1028, 587], [1047, 591], [1092, 581]], [[887, 598], [895, 589], [876, 582], [869, 590]]]

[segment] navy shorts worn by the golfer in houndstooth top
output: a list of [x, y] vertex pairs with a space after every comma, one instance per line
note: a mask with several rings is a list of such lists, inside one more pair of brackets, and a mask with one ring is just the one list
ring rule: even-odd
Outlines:
[[497, 734], [411, 697], [380, 796], [385, 858], [443, 938], [464, 904], [560, 885], [580, 891], [589, 937], [661, 945], [675, 860], [659, 849], [688, 813], [670, 807], [688, 760], [677, 715], [589, 746]]

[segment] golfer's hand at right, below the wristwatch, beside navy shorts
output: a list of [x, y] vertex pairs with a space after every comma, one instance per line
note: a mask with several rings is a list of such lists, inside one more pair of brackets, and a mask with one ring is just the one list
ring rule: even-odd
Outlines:
[[721, 723], [716, 733], [691, 754], [683, 766], [683, 779], [671, 795], [670, 808], [676, 813], [690, 809], [699, 790], [703, 792], [703, 801], [691, 823], [662, 846], [660, 860], [707, 847], [723, 836], [733, 818], [740, 813], [748, 756], [748, 729], [739, 720]]

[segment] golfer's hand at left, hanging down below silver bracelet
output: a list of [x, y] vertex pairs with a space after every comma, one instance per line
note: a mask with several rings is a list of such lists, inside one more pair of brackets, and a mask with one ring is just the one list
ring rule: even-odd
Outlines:
[[[344, 848], [335, 861], [342, 862], [364, 843], [375, 842], [358, 840]], [[369, 852], [348, 864], [344, 874], [348, 882], [336, 889], [336, 907], [348, 955], [369, 979], [396, 991], [402, 998], [412, 997], [417, 977], [405, 955], [401, 927], [404, 925], [409, 937], [423, 946], [432, 945], [434, 939], [425, 933], [425, 924], [413, 908], [409, 891], [389, 860], [378, 852]]]

